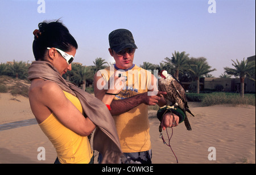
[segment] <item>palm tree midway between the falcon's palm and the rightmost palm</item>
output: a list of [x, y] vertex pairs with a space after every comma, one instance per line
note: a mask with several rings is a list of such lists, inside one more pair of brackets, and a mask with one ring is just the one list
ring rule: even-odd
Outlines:
[[199, 80], [200, 77], [203, 75], [207, 75], [209, 72], [212, 72], [216, 69], [210, 69], [211, 66], [208, 65], [207, 59], [204, 57], [199, 57], [199, 58], [191, 58], [189, 60], [191, 63], [190, 69], [188, 70], [191, 72], [196, 79], [196, 92], [199, 93]]

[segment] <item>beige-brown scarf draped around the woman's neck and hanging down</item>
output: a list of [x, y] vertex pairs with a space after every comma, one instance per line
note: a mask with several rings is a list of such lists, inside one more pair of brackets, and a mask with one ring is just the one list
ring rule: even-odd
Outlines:
[[112, 115], [101, 100], [65, 80], [46, 61], [35, 61], [28, 68], [28, 79], [43, 79], [57, 83], [63, 91], [76, 96], [82, 105], [85, 117], [96, 125], [93, 137], [93, 150], [101, 152], [102, 163], [118, 163], [121, 147]]

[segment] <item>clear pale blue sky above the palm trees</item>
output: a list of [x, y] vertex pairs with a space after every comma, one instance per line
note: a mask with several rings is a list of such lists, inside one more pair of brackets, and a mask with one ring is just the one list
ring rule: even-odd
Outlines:
[[158, 64], [172, 53], [205, 57], [216, 71], [255, 55], [255, 0], [0, 0], [0, 62], [35, 60], [34, 29], [61, 19], [79, 48], [74, 62], [114, 62], [108, 35], [129, 29], [138, 49], [134, 63]]

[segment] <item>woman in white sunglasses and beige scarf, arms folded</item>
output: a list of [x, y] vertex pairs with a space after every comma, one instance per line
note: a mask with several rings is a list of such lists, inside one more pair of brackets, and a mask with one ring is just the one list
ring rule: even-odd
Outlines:
[[[105, 153], [104, 163], [115, 163], [121, 149], [109, 105], [112, 94], [121, 88], [109, 89], [100, 101], [67, 82], [62, 75], [72, 69], [76, 40], [59, 21], [39, 23], [38, 27], [33, 32], [36, 61], [28, 70], [28, 94], [39, 126], [56, 149], [55, 163], [93, 163], [88, 135], [96, 126], [94, 150]], [[115, 80], [123, 84], [123, 77], [115, 76]]]

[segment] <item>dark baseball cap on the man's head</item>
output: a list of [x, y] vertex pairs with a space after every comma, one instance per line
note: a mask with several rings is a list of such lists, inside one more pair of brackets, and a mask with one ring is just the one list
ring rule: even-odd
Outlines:
[[137, 48], [133, 34], [127, 29], [116, 29], [109, 33], [109, 46], [116, 53], [126, 48]]

